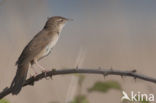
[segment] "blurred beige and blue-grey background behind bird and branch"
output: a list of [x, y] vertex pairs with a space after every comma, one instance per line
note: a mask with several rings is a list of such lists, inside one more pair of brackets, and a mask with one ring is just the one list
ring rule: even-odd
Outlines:
[[[47, 17], [56, 15], [74, 21], [65, 26], [51, 55], [40, 61], [44, 67], [137, 69], [156, 77], [155, 5], [154, 0], [0, 0], [0, 90], [10, 85], [25, 45], [43, 28]], [[11, 103], [67, 103], [77, 94], [77, 77], [43, 79], [6, 99]], [[88, 94], [96, 81], [108, 80], [119, 82], [127, 93], [156, 93], [154, 84], [142, 80], [86, 75], [81, 92], [89, 103], [120, 103], [122, 94], [114, 89]]]

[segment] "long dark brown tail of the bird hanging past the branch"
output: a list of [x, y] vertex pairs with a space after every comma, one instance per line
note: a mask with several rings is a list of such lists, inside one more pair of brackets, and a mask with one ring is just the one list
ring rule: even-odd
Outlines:
[[29, 63], [18, 64], [16, 75], [10, 86], [13, 95], [17, 95], [21, 91], [27, 77], [28, 69]]

